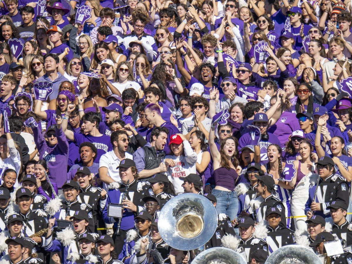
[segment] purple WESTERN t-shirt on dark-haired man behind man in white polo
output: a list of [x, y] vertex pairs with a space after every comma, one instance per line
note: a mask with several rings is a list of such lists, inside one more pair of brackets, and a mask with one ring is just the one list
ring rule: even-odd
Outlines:
[[100, 157], [103, 154], [113, 149], [112, 144], [110, 142], [110, 137], [107, 135], [95, 137], [91, 135], [83, 135], [81, 133], [74, 133], [74, 140], [77, 146], [80, 146], [83, 142], [91, 142], [94, 144], [94, 146], [98, 150], [98, 155], [96, 155], [96, 159], [94, 160], [96, 163], [99, 163]]

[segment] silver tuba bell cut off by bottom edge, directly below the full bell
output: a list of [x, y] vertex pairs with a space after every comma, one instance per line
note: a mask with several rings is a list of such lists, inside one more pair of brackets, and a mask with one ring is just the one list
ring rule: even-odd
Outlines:
[[246, 260], [232, 249], [212, 247], [196, 256], [191, 264], [246, 264]]

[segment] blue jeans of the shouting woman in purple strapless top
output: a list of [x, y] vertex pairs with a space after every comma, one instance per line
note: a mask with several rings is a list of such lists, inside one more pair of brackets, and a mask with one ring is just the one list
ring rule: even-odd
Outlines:
[[212, 194], [216, 197], [216, 212], [226, 214], [231, 220], [237, 218], [238, 197], [236, 193], [213, 189]]

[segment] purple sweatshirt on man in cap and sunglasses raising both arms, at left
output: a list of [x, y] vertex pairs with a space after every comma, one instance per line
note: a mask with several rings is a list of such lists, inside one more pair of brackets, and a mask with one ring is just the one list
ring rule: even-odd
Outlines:
[[44, 139], [42, 131], [37, 127], [32, 128], [34, 142], [36, 143], [39, 159], [44, 159], [50, 168], [50, 178], [56, 182], [58, 188], [61, 188], [66, 181], [66, 177], [62, 177], [62, 170], [66, 172], [68, 160], [68, 142], [62, 129], [56, 128], [57, 144], [54, 147]]

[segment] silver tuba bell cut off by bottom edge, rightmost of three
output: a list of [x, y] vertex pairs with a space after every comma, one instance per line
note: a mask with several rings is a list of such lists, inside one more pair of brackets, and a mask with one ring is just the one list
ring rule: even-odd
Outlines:
[[265, 264], [321, 264], [321, 261], [307, 247], [287, 245], [272, 252]]

